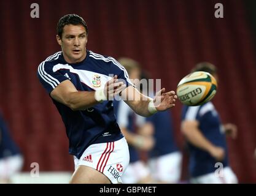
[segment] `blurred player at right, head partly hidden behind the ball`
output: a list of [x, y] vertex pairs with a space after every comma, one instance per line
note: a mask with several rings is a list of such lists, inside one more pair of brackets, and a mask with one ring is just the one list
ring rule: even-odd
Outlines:
[[[218, 80], [217, 69], [209, 62], [197, 64], [192, 72], [195, 71], [209, 72]], [[191, 183], [238, 183], [228, 163], [225, 138], [225, 135], [236, 138], [237, 129], [234, 124], [222, 125], [212, 102], [195, 107], [184, 105], [181, 130], [190, 151]]]

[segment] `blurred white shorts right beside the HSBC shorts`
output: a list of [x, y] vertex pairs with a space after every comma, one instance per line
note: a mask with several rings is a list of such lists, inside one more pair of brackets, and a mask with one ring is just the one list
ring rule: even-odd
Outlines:
[[136, 184], [147, 176], [150, 175], [150, 170], [147, 165], [141, 160], [129, 164], [123, 174], [123, 183], [125, 184]]

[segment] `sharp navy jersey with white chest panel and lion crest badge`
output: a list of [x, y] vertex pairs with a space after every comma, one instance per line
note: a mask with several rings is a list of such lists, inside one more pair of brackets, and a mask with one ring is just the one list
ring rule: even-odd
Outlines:
[[[125, 68], [114, 58], [88, 50], [85, 59], [76, 64], [66, 62], [59, 51], [41, 62], [37, 70], [37, 76], [48, 94], [64, 80], [70, 80], [78, 91], [96, 91], [104, 88], [114, 75], [124, 80], [126, 86], [133, 85]], [[94, 143], [116, 141], [123, 137], [115, 119], [112, 100], [79, 111], [72, 111], [52, 100], [66, 127], [69, 154], [80, 158], [83, 151]]]

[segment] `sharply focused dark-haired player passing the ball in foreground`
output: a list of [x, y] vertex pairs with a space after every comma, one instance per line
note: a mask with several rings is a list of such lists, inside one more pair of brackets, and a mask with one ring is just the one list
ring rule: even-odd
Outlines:
[[141, 116], [174, 107], [177, 96], [165, 88], [155, 99], [144, 96], [114, 58], [87, 50], [87, 39], [82, 17], [60, 18], [56, 40], [62, 51], [45, 59], [37, 76], [66, 127], [69, 154], [75, 162], [70, 183], [122, 183], [129, 151], [114, 116], [114, 96], [120, 94]]

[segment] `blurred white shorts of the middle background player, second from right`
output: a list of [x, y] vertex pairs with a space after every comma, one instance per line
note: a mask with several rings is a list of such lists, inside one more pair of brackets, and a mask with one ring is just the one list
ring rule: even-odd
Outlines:
[[149, 167], [155, 181], [179, 183], [182, 169], [182, 154], [174, 152], [149, 159]]

